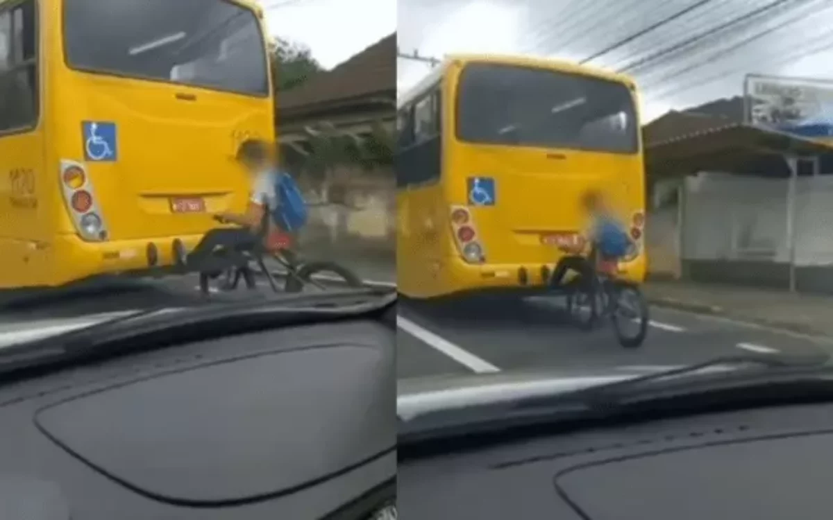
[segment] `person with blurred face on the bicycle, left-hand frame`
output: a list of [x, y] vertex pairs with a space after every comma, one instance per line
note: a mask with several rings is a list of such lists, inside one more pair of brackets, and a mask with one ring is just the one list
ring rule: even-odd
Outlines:
[[[187, 256], [188, 265], [198, 265], [200, 261], [209, 257], [218, 247], [228, 247], [237, 250], [252, 249], [257, 245], [264, 211], [272, 213], [280, 204], [275, 189], [277, 181], [277, 164], [272, 161], [269, 143], [265, 141], [245, 141], [237, 151], [237, 160], [246, 167], [252, 176], [252, 190], [247, 210], [243, 214], [222, 213], [214, 218], [223, 224], [236, 224], [237, 228], [222, 228], [209, 230], [197, 244], [197, 247]], [[268, 219], [267, 248], [276, 246], [287, 247], [287, 235], [270, 216]]]

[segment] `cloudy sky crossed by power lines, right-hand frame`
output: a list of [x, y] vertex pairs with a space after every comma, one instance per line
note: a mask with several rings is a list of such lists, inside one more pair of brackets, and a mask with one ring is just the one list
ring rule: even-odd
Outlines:
[[[398, 0], [397, 7], [402, 52], [501, 52], [573, 61], [693, 7], [591, 62], [613, 70], [765, 9], [626, 71], [641, 87], [648, 119], [739, 95], [747, 72], [833, 78], [833, 0]], [[405, 59], [397, 69], [401, 89], [429, 70]]]

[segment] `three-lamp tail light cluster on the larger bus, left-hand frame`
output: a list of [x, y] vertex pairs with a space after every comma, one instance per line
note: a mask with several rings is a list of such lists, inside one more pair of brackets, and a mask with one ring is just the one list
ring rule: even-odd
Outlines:
[[82, 240], [107, 240], [107, 226], [102, 219], [92, 181], [81, 163], [61, 161], [61, 188], [67, 213]]

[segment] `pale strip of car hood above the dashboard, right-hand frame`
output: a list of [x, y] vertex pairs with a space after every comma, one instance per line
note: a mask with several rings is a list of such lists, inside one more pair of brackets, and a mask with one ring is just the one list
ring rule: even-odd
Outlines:
[[[397, 416], [408, 421], [421, 414], [480, 404], [512, 402], [566, 394], [681, 365], [613, 366], [598, 369], [538, 369], [496, 374], [430, 376], [397, 381]], [[715, 367], [715, 371], [726, 368]]]

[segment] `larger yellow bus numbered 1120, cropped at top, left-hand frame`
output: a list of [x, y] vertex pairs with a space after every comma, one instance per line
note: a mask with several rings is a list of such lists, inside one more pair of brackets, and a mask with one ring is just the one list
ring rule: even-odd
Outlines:
[[274, 133], [254, 2], [0, 0], [0, 289], [171, 265]]

